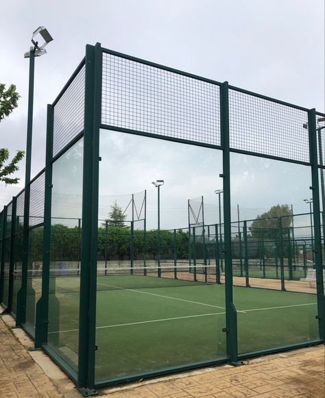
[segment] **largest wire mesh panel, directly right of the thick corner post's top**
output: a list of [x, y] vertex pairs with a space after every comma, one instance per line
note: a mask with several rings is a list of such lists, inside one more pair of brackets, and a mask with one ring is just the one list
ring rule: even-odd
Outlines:
[[220, 145], [219, 86], [104, 53], [101, 123]]

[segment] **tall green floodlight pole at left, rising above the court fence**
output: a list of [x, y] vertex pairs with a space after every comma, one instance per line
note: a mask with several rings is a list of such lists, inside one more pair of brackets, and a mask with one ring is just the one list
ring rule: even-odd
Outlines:
[[[38, 38], [44, 40], [43, 45], [38, 45]], [[21, 290], [17, 304], [16, 326], [25, 323], [27, 281], [28, 281], [28, 251], [29, 251], [29, 200], [30, 200], [30, 169], [32, 162], [32, 132], [33, 132], [33, 103], [34, 103], [34, 66], [35, 57], [46, 54], [45, 47], [53, 40], [45, 27], [38, 27], [32, 34], [32, 47], [24, 54], [29, 58], [29, 86], [28, 86], [28, 113], [27, 113], [27, 142], [26, 142], [26, 167], [25, 167], [25, 199], [24, 199], [24, 227], [23, 227], [23, 263], [21, 271]]]

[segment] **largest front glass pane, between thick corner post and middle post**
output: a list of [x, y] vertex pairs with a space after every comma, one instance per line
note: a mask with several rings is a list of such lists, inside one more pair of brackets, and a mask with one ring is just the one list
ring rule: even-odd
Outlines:
[[96, 380], [226, 358], [221, 153], [101, 131], [100, 156]]

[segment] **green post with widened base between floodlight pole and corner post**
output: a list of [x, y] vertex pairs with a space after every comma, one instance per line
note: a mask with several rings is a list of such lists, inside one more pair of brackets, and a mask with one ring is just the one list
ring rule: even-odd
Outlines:
[[[36, 303], [35, 348], [47, 343], [49, 323], [49, 266], [51, 261], [51, 201], [53, 157], [53, 106], [47, 105], [47, 140], [45, 158], [45, 199], [43, 228], [42, 295]], [[53, 299], [55, 292], [51, 292]]]

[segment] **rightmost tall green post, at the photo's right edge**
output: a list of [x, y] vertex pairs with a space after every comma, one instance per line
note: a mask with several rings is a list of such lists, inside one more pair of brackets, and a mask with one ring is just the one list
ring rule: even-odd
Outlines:
[[317, 289], [317, 310], [318, 327], [320, 338], [325, 341], [325, 295], [323, 279], [323, 260], [322, 260], [322, 233], [320, 222], [320, 186], [318, 179], [317, 164], [317, 130], [316, 130], [316, 111], [308, 112], [309, 129], [309, 156], [311, 163], [311, 186], [313, 191], [313, 221], [314, 221], [314, 250], [316, 268], [316, 289]]

